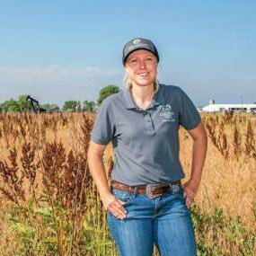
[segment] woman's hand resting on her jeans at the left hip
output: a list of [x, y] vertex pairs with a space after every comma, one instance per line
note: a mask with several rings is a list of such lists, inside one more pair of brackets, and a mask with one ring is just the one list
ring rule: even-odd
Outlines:
[[124, 201], [113, 196], [111, 193], [104, 195], [102, 199], [103, 207], [106, 211], [109, 211], [112, 215], [117, 218], [123, 219], [126, 217], [127, 211], [123, 205]]

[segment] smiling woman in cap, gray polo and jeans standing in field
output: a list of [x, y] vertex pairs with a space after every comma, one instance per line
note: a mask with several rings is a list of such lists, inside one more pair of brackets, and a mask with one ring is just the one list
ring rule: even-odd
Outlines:
[[[186, 93], [157, 82], [158, 62], [151, 40], [125, 45], [128, 88], [102, 102], [92, 131], [89, 168], [122, 256], [150, 256], [154, 243], [161, 255], [196, 255], [189, 207], [199, 190], [207, 136]], [[180, 125], [193, 139], [190, 180], [183, 186]], [[110, 141], [116, 160], [109, 188], [102, 154]]]

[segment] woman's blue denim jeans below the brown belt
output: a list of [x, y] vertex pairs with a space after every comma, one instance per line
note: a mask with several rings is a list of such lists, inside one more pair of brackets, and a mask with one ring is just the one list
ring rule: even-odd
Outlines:
[[112, 189], [125, 201], [127, 216], [119, 219], [107, 212], [110, 234], [121, 256], [152, 256], [154, 244], [162, 256], [194, 256], [196, 243], [190, 209], [183, 199], [183, 189], [154, 199]]

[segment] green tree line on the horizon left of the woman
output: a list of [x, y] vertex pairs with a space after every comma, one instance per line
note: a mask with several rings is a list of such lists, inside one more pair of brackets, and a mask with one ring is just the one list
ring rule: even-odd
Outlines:
[[[60, 108], [56, 103], [44, 103], [44, 104], [40, 104], [40, 108], [48, 112], [95, 111], [101, 105], [101, 103], [105, 98], [110, 96], [110, 94], [119, 93], [120, 91], [121, 90], [117, 85], [110, 84], [102, 88], [96, 102], [87, 101], [87, 100], [85, 100], [84, 102], [66, 101], [64, 102], [62, 108]], [[22, 112], [22, 111], [31, 110], [30, 106], [28, 105], [29, 102], [27, 101], [27, 96], [28, 95], [26, 94], [21, 94], [18, 97], [18, 100], [14, 100], [13, 98], [11, 98], [10, 100], [0, 103], [0, 112]]]

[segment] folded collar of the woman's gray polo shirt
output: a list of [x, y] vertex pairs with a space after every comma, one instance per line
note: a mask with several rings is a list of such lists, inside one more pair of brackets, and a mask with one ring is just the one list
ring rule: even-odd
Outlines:
[[[128, 89], [125, 90], [124, 97], [125, 97], [125, 105], [128, 110], [137, 109], [137, 105], [133, 102], [131, 98], [131, 94]], [[154, 98], [153, 98], [153, 101], [151, 102], [150, 107], [161, 105], [163, 103], [164, 103], [163, 86], [162, 84], [159, 84], [158, 91], [154, 95]]]

